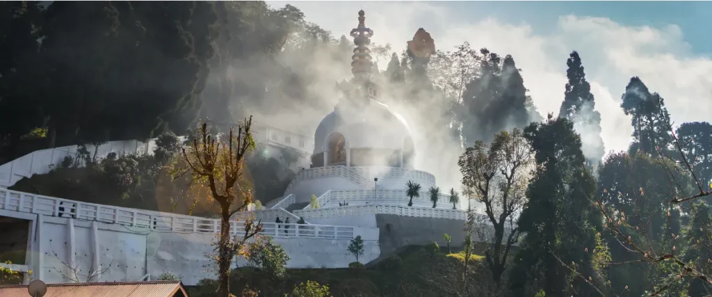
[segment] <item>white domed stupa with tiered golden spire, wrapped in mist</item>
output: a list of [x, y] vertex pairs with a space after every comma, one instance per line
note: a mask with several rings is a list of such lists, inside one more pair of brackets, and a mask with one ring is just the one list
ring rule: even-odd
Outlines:
[[[435, 187], [435, 177], [414, 168], [417, 150], [410, 127], [379, 101], [368, 48], [373, 31], [365, 26], [364, 11], [358, 20], [351, 31], [354, 77], [337, 84], [343, 96], [315, 131], [310, 168], [296, 174], [284, 195], [293, 195], [293, 207], [304, 209], [310, 209], [306, 204], [313, 197], [325, 209], [346, 204], [404, 206], [409, 202], [406, 184], [414, 182], [420, 184], [422, 197], [414, 200], [414, 207], [432, 207], [428, 191]], [[437, 208], [451, 209], [444, 200]]]

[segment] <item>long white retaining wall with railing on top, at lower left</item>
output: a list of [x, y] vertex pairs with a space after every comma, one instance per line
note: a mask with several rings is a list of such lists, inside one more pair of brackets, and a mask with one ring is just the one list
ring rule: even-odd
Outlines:
[[[270, 209], [270, 212], [286, 212]], [[257, 214], [259, 212], [246, 212]], [[265, 212], [268, 213], [268, 212]], [[71, 282], [75, 269], [104, 271], [92, 281], [140, 281], [165, 271], [193, 285], [214, 277], [211, 254], [219, 220], [145, 212], [0, 189], [0, 215], [31, 221], [31, 251], [20, 271], [33, 278]], [[244, 234], [232, 222], [234, 235]], [[289, 268], [345, 268], [354, 261], [347, 246], [355, 236], [365, 245], [365, 263], [380, 255], [379, 230], [358, 226], [276, 224], [263, 222], [263, 235], [273, 237], [290, 256]], [[236, 265], [246, 265], [239, 259]], [[82, 274], [82, 273], [80, 273]], [[86, 278], [86, 276], [83, 276]], [[28, 278], [26, 278], [28, 280]], [[83, 280], [85, 281], [85, 279]]]

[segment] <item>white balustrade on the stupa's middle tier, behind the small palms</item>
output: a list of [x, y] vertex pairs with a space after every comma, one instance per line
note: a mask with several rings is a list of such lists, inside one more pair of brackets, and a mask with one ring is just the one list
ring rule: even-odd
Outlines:
[[[352, 191], [332, 191], [330, 193], [330, 201], [332, 204], [338, 202], [361, 202], [363, 204], [382, 204], [384, 202], [392, 204], [407, 204], [410, 201], [405, 189], [360, 189]], [[430, 193], [421, 191], [419, 197], [413, 198], [413, 204], [418, 206], [432, 205], [430, 201]], [[437, 209], [452, 209], [450, 203], [450, 195], [440, 194]]]

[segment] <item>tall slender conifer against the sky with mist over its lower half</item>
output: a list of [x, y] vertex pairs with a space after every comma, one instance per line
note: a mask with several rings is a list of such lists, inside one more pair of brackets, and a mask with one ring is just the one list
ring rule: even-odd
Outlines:
[[596, 103], [591, 93], [591, 85], [586, 80], [581, 58], [576, 51], [569, 55], [566, 65], [568, 83], [559, 116], [574, 123], [575, 129], [581, 135], [584, 155], [592, 165], [598, 165], [605, 153], [601, 137], [601, 114], [595, 110]]

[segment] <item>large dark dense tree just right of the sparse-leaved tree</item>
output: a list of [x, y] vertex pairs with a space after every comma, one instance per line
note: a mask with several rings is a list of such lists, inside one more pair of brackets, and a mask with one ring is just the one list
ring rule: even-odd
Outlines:
[[[515, 255], [510, 275], [514, 296], [594, 296], [594, 288], [575, 276], [579, 271], [595, 283], [603, 280], [592, 266], [600, 214], [590, 199], [595, 179], [586, 170], [580, 137], [565, 118], [549, 115], [524, 132], [535, 153], [531, 180], [518, 228], [526, 234]], [[575, 264], [575, 267], [567, 267]]]

